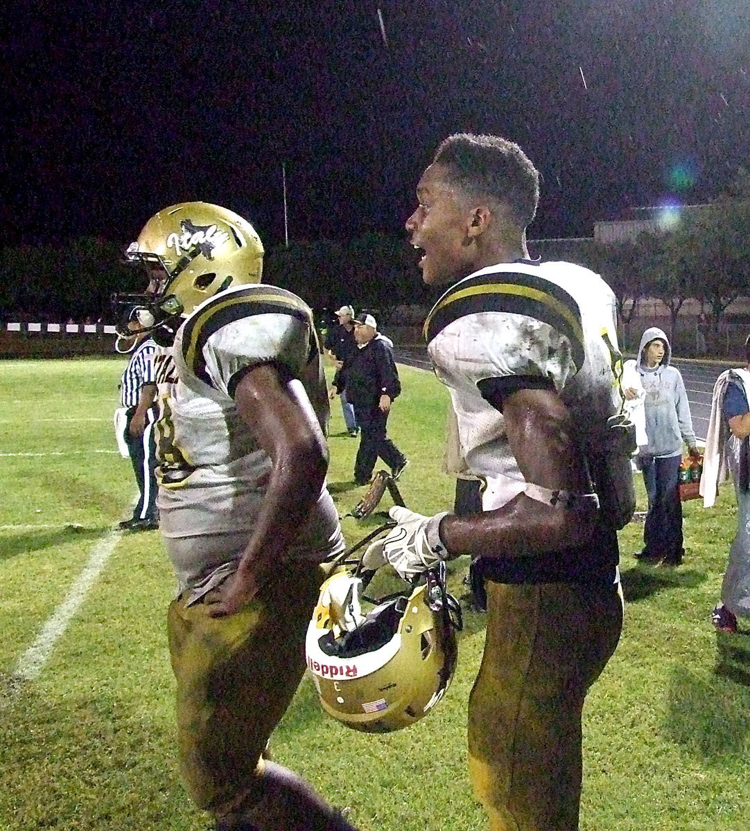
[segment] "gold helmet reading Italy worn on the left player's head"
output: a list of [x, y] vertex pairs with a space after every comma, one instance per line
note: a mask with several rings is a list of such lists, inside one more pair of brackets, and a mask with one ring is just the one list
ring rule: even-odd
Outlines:
[[181, 318], [230, 286], [260, 282], [263, 243], [249, 222], [207, 202], [182, 202], [160, 210], [125, 252], [126, 261], [146, 270], [144, 294], [120, 294], [125, 307], [118, 332], [134, 309], [154, 317], [152, 329], [174, 332]]

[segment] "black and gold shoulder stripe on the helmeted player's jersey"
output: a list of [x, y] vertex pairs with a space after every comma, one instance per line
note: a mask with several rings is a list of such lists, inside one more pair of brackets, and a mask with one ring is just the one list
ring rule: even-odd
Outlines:
[[313, 325], [313, 312], [307, 303], [284, 288], [261, 283], [257, 286], [245, 286], [234, 292], [217, 294], [185, 322], [182, 332], [182, 356], [185, 365], [196, 377], [210, 385], [210, 377], [205, 370], [203, 347], [211, 335], [228, 323], [241, 320], [243, 317], [268, 313], [287, 314], [305, 323], [310, 332], [310, 349], [313, 350], [317, 335]]

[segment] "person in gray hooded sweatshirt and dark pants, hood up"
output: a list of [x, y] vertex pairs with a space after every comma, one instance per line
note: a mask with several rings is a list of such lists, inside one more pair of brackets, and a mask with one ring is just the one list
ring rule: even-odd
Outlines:
[[649, 511], [644, 526], [644, 549], [635, 557], [641, 563], [677, 566], [683, 561], [683, 509], [679, 499], [679, 463], [683, 441], [691, 456], [699, 456], [683, 376], [669, 366], [669, 340], [657, 327], [640, 339], [638, 372], [646, 393], [646, 435], [639, 447]]

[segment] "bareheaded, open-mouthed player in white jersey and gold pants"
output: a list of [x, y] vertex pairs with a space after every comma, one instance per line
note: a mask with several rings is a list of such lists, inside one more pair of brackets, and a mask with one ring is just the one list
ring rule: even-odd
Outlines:
[[614, 296], [585, 268], [530, 260], [538, 194], [534, 165], [494, 136], [452, 135], [420, 179], [406, 227], [425, 283], [447, 286], [425, 336], [482, 511], [392, 509], [397, 528], [367, 554], [407, 576], [471, 555], [487, 627], [469, 761], [492, 831], [579, 827], [581, 711], [619, 640], [615, 531], [633, 509], [608, 424]]

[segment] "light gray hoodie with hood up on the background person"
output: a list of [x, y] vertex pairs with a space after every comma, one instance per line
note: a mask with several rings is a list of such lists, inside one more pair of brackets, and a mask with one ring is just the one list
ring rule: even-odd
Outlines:
[[[656, 338], [664, 341], [664, 357], [659, 366], [648, 369], [644, 349]], [[655, 326], [646, 329], [640, 339], [637, 359], [638, 373], [646, 392], [646, 435], [649, 437], [648, 447], [641, 448], [641, 452], [654, 456], [682, 455], [683, 440], [688, 447], [695, 446], [688, 394], [679, 370], [669, 366], [671, 357], [672, 350], [664, 332]]]

